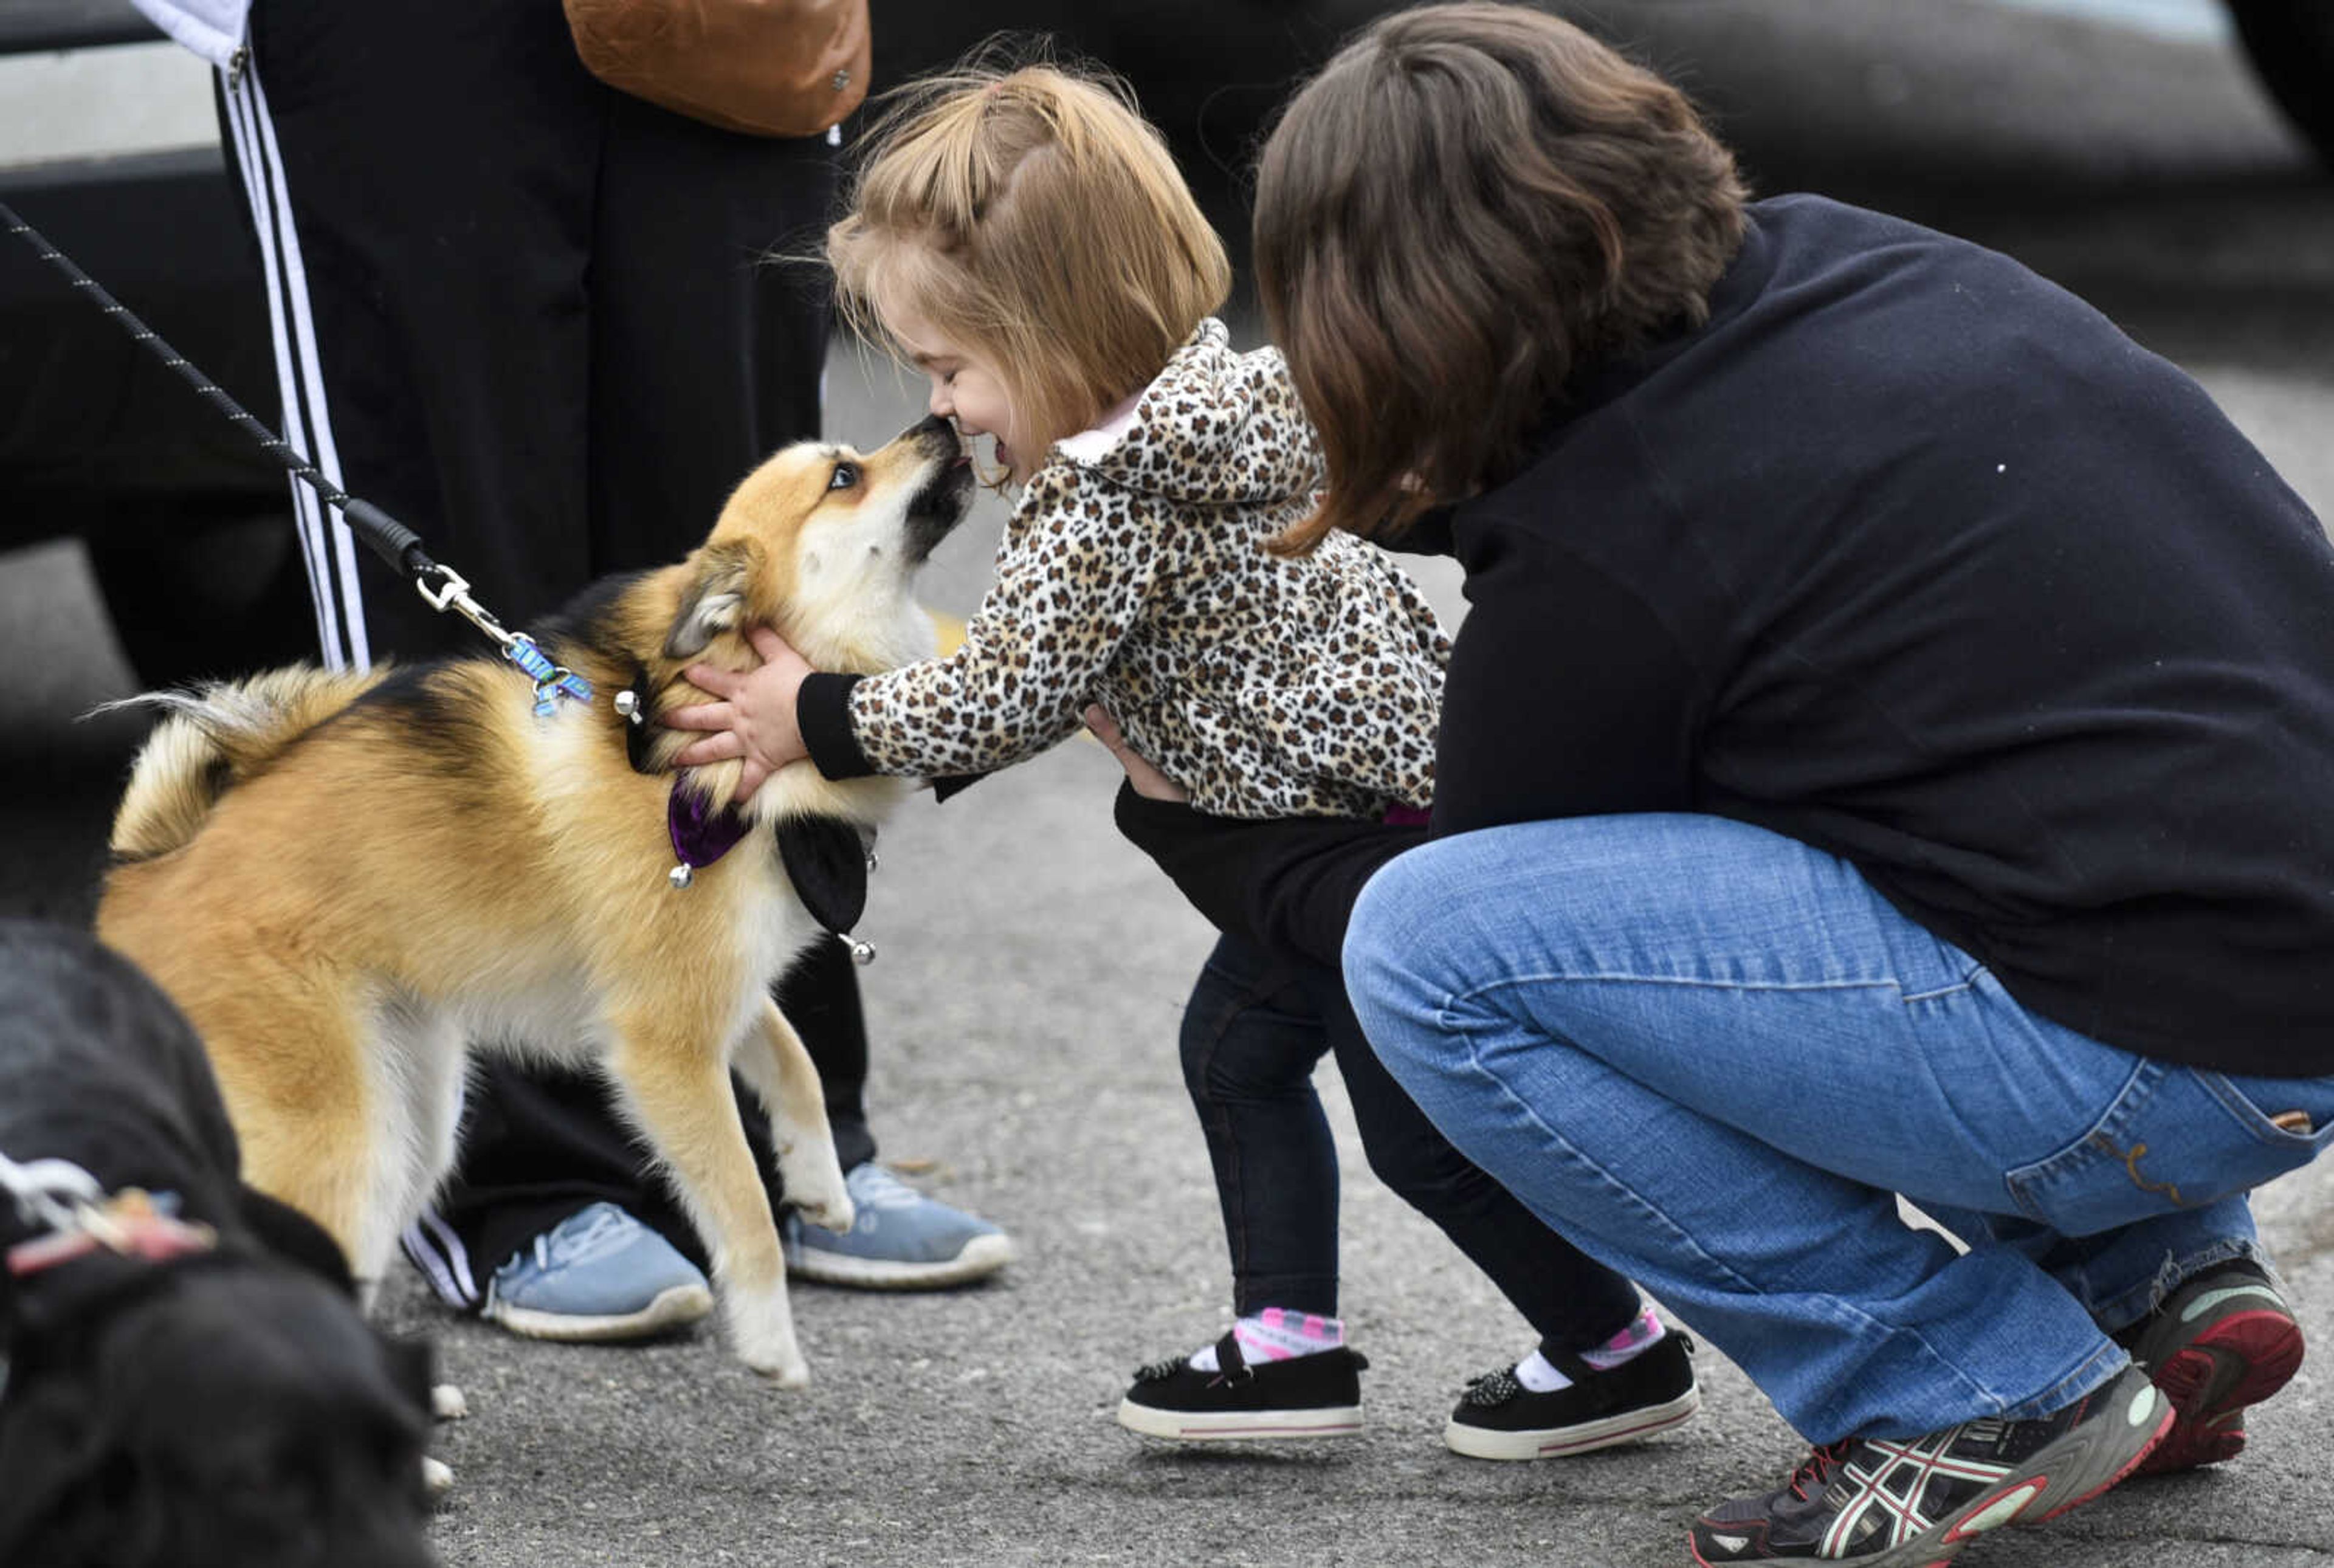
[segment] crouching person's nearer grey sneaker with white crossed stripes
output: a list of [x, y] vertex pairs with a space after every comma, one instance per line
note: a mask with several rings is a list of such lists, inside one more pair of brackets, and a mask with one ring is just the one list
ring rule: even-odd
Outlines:
[[1818, 1447], [1781, 1491], [1720, 1503], [1687, 1545], [1704, 1568], [1774, 1559], [1935, 1568], [2005, 1524], [2042, 1524], [2131, 1475], [2171, 1402], [2138, 1367], [2035, 1421]]

